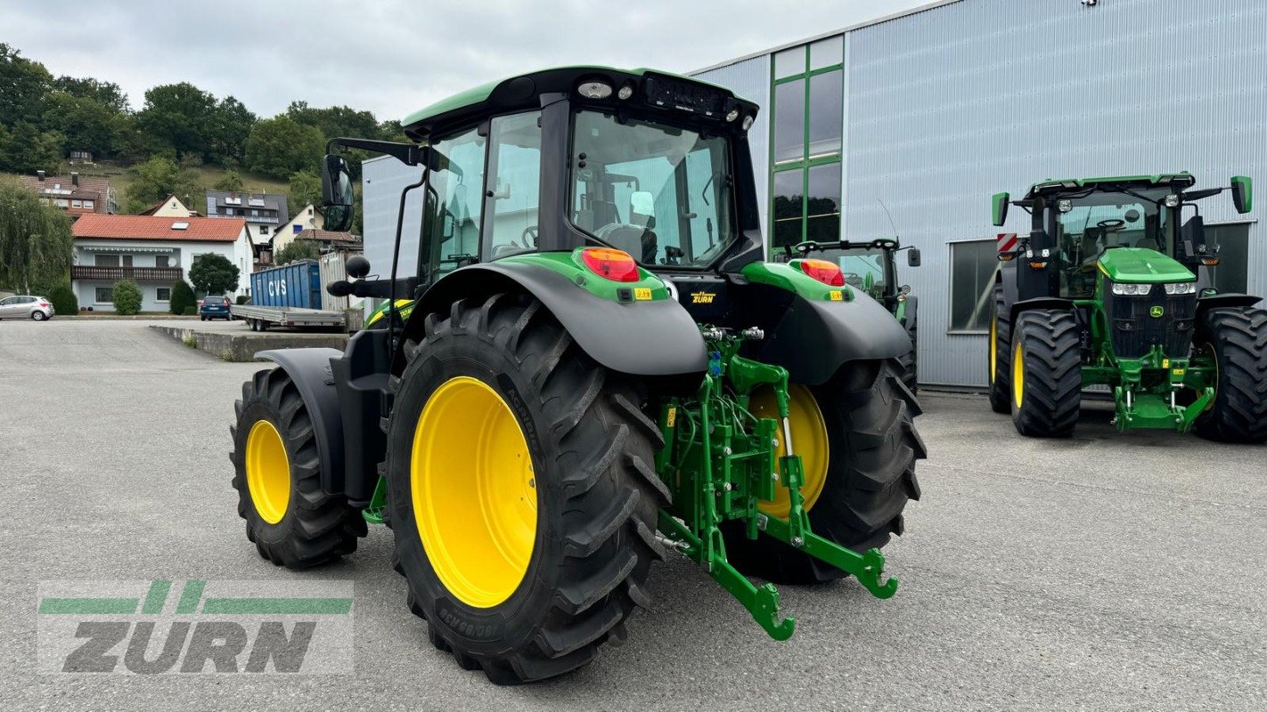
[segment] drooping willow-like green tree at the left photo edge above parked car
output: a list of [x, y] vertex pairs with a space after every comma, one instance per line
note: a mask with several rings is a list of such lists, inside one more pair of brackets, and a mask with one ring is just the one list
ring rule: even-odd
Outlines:
[[0, 285], [23, 292], [70, 278], [71, 220], [27, 187], [0, 182]]

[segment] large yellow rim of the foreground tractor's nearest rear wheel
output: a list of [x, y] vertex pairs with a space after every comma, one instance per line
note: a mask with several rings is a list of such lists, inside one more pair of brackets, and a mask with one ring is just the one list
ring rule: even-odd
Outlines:
[[497, 391], [459, 376], [432, 393], [413, 434], [409, 487], [445, 588], [475, 608], [509, 598], [532, 558], [537, 491], [528, 441]]

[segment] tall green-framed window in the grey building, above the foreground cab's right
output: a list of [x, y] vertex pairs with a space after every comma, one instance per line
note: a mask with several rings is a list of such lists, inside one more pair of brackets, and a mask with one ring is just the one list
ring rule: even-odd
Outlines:
[[839, 240], [844, 38], [784, 49], [773, 63], [773, 247]]

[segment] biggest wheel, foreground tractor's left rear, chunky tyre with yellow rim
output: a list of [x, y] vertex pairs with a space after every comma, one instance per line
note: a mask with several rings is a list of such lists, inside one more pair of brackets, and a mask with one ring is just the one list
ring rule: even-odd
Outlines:
[[459, 301], [424, 329], [393, 381], [385, 464], [409, 608], [494, 683], [576, 669], [650, 605], [663, 436], [536, 300]]

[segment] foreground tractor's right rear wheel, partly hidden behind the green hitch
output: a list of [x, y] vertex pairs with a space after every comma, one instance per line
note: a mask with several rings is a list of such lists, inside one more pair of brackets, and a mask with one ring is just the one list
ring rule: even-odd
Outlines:
[[[865, 551], [902, 534], [907, 501], [920, 498], [915, 460], [927, 450], [915, 430], [920, 406], [903, 384], [898, 359], [845, 364], [822, 386], [793, 386], [793, 450], [801, 455], [801, 488], [810, 527], [818, 536]], [[763, 402], [764, 401], [764, 402]], [[754, 397], [753, 410], [777, 417], [773, 397]], [[779, 454], [784, 453], [782, 429]], [[763, 503], [772, 516], [787, 516], [787, 489]], [[835, 580], [845, 572], [767, 536], [748, 539], [742, 522], [727, 522], [726, 555], [740, 572], [774, 583]]]

